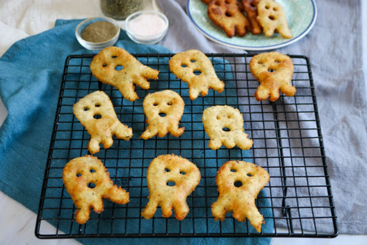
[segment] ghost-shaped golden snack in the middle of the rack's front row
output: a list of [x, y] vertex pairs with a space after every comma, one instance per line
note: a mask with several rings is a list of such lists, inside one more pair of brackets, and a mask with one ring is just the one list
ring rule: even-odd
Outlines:
[[189, 213], [187, 196], [199, 184], [200, 171], [186, 158], [174, 154], [162, 155], [151, 161], [147, 182], [149, 202], [141, 215], [148, 220], [160, 206], [163, 217], [171, 216], [174, 209], [176, 219], [183, 220]]

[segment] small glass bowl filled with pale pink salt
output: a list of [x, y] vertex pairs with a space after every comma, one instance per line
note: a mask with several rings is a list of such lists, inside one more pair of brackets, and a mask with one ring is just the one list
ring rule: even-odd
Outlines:
[[168, 30], [165, 14], [154, 10], [143, 10], [130, 14], [125, 20], [125, 30], [132, 41], [155, 44], [165, 37]]

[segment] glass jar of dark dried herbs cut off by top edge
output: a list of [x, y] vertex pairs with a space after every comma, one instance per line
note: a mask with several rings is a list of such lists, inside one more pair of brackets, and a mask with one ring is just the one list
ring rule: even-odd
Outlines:
[[101, 11], [114, 19], [126, 19], [130, 14], [141, 9], [142, 0], [101, 0]]

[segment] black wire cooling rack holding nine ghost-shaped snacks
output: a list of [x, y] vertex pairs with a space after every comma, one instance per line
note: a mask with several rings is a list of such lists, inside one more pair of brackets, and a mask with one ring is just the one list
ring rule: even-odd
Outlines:
[[[45, 167], [36, 236], [39, 238], [85, 237], [335, 237], [337, 217], [331, 193], [326, 156], [319, 124], [311, 67], [305, 56], [291, 55], [295, 65], [293, 97], [281, 96], [276, 102], [256, 101], [253, 94], [258, 81], [249, 71], [249, 54], [207, 54], [224, 92], [209, 89], [207, 96], [190, 100], [187, 83], [169, 72], [172, 54], [134, 54], [138, 60], [160, 71], [150, 89], [136, 87], [140, 97], [134, 102], [122, 98], [110, 85], [97, 81], [90, 72], [93, 55], [67, 57], [57, 105], [50, 151]], [[185, 101], [179, 138], [167, 135], [142, 140], [147, 127], [143, 98], [162, 89], [178, 92]], [[72, 114], [72, 106], [83, 96], [103, 90], [112, 100], [121, 122], [132, 127], [131, 140], [114, 138], [114, 145], [96, 153], [108, 169], [114, 184], [130, 195], [128, 204], [104, 200], [101, 214], [91, 212], [90, 220], [79, 225], [74, 220], [76, 208], [65, 190], [62, 171], [65, 164], [88, 154], [87, 131]], [[231, 105], [244, 116], [244, 129], [253, 139], [253, 147], [222, 146], [213, 151], [202, 127], [202, 111], [211, 105]], [[187, 198], [189, 214], [185, 220], [161, 216], [160, 207], [151, 220], [140, 212], [148, 202], [146, 173], [154, 157], [174, 153], [187, 158], [200, 169], [202, 178]], [[246, 160], [269, 172], [270, 182], [260, 192], [256, 205], [264, 215], [262, 232], [249, 222], [238, 222], [228, 213], [223, 222], [214, 221], [211, 204], [218, 198], [216, 171], [228, 160]], [[48, 223], [56, 229], [50, 231]]]

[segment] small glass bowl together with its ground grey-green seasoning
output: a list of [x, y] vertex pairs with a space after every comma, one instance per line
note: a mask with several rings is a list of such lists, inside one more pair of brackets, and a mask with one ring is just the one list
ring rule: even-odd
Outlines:
[[75, 36], [86, 49], [103, 50], [116, 43], [120, 36], [120, 26], [108, 17], [89, 18], [76, 26]]

